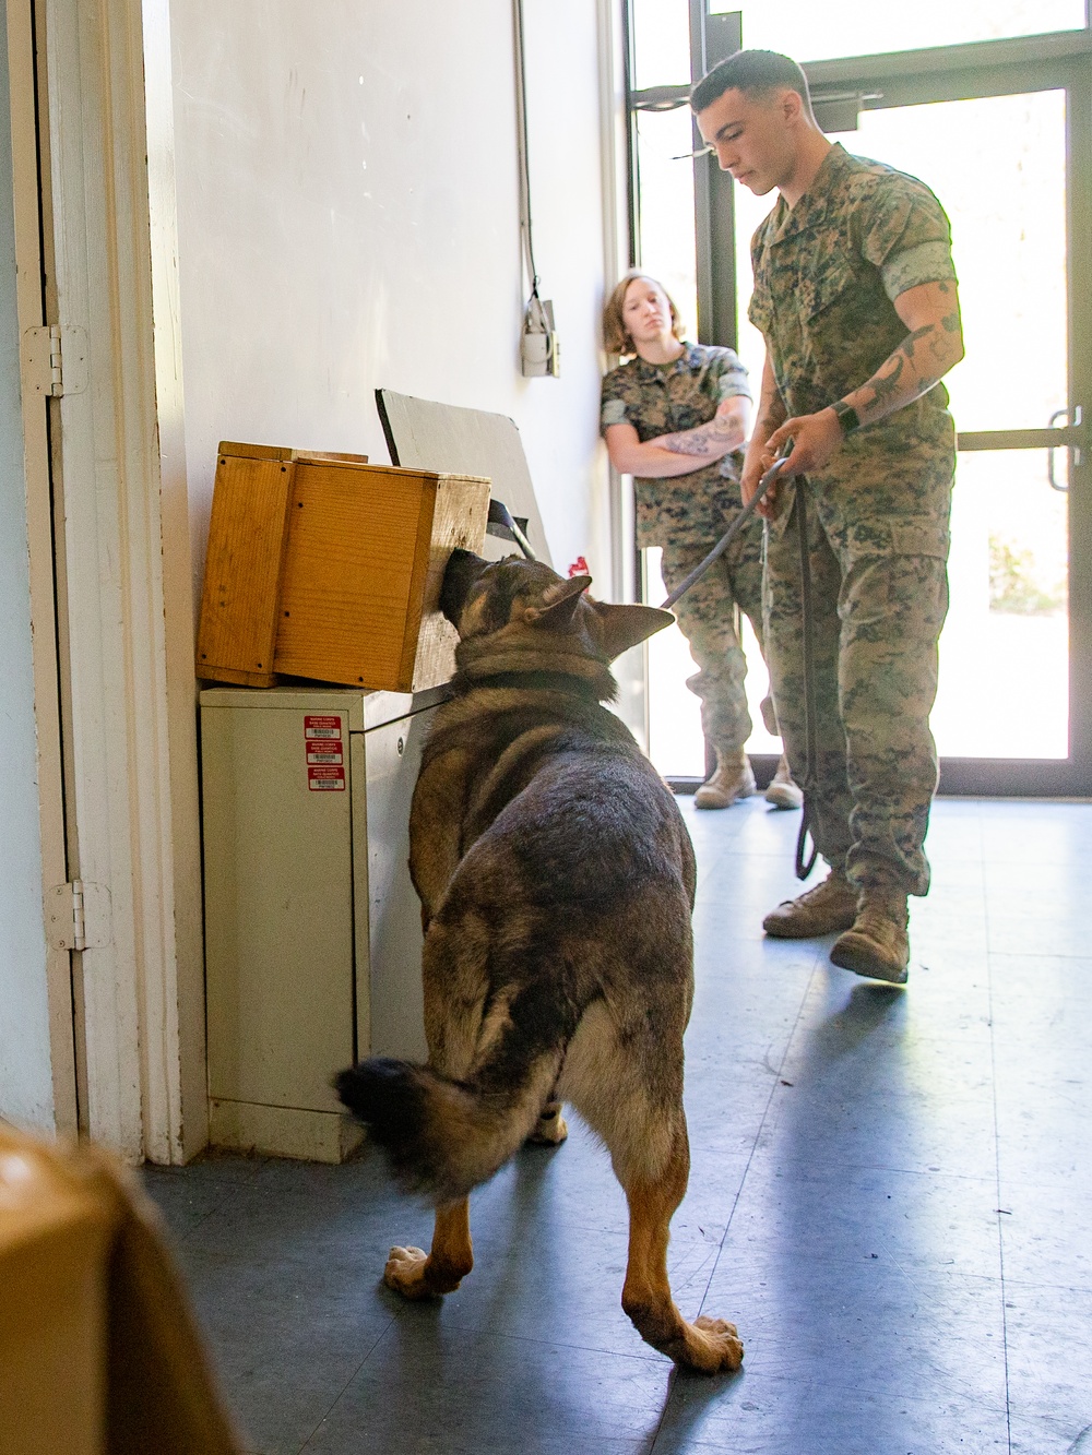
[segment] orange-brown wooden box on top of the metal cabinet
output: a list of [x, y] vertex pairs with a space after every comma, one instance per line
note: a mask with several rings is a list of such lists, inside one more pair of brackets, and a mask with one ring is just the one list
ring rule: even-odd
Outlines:
[[400, 693], [447, 681], [440, 583], [456, 546], [480, 550], [488, 511], [483, 476], [223, 442], [198, 677]]

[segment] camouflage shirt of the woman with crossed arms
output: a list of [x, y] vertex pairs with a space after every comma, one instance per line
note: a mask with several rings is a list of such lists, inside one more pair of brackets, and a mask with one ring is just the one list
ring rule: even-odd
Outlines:
[[[725, 399], [751, 397], [732, 349], [686, 343], [671, 364], [629, 359], [603, 380], [601, 429], [633, 425], [641, 444], [706, 425]], [[668, 480], [633, 480], [638, 546], [713, 546], [740, 509], [738, 453]]]

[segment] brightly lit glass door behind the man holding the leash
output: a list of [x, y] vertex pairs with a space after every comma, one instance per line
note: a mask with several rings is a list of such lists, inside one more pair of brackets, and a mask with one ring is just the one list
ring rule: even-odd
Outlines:
[[[1077, 32], [805, 65], [824, 129], [920, 176], [952, 220], [967, 356], [946, 380], [960, 432], [933, 711], [946, 792], [1092, 792], [1092, 329], [1077, 287], [1092, 276], [1088, 58]], [[641, 138], [639, 163], [648, 151]], [[737, 336], [715, 339], [734, 343], [754, 377], [763, 345], [745, 314], [748, 242], [770, 201], [732, 189]], [[699, 279], [700, 252], [699, 226]], [[678, 704], [684, 658], [671, 668], [668, 639], [658, 650], [652, 752], [662, 719], [677, 761], [686, 738], [661, 704]], [[757, 650], [750, 677], [760, 695]]]

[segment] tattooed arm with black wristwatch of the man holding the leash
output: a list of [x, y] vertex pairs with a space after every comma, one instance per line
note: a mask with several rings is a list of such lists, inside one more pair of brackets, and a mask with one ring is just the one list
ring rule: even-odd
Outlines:
[[[844, 396], [862, 425], [885, 419], [926, 394], [962, 358], [962, 329], [955, 282], [923, 282], [895, 298], [895, 313], [907, 335], [872, 378]], [[831, 403], [834, 403], [831, 400]], [[772, 458], [792, 436], [795, 448], [786, 474], [821, 469], [842, 444], [842, 426], [833, 409], [786, 419], [767, 441]]]

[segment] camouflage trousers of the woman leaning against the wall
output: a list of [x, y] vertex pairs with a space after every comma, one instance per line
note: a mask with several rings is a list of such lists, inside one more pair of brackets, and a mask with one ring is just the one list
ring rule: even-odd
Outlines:
[[[661, 572], [667, 589], [674, 591], [713, 544], [664, 546]], [[761, 646], [761, 521], [753, 517], [671, 608], [699, 668], [686, 685], [702, 700], [705, 741], [725, 754], [738, 752], [751, 735], [744, 691], [747, 659], [735, 631], [735, 607], [750, 618]]]

